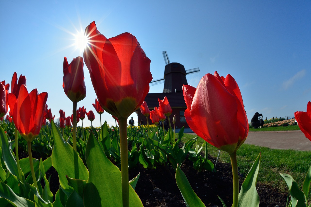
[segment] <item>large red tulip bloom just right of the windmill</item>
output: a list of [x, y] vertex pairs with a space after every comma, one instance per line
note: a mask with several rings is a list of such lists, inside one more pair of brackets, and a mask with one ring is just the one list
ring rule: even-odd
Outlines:
[[197, 88], [183, 85], [183, 96], [189, 127], [211, 145], [236, 152], [247, 137], [248, 120], [234, 78], [206, 74]]

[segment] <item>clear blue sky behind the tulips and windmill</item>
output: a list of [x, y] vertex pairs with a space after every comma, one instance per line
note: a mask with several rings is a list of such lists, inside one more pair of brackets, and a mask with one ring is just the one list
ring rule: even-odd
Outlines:
[[[25, 75], [27, 88], [48, 92], [53, 115], [71, 115], [63, 91], [63, 58], [82, 52], [73, 34], [95, 21], [107, 38], [135, 35], [151, 59], [154, 79], [163, 77], [162, 51], [171, 62], [201, 72], [187, 76], [194, 87], [206, 73], [231, 74], [248, 121], [255, 112], [294, 117], [311, 101], [311, 1], [0, 1], [0, 80]], [[95, 92], [84, 67], [86, 98], [78, 107], [95, 113]], [[151, 86], [161, 93], [162, 85]], [[159, 97], [163, 99], [163, 97]], [[103, 120], [114, 125], [111, 115]], [[137, 125], [137, 116], [134, 116]], [[81, 121], [78, 123], [81, 124]], [[85, 126], [91, 122], [84, 121]]]

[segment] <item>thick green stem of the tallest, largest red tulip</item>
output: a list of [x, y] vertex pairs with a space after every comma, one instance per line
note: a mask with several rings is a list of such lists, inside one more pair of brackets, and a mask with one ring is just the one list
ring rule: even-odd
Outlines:
[[121, 156], [121, 184], [123, 207], [129, 206], [128, 194], [128, 118], [118, 117], [120, 130], [120, 156]]

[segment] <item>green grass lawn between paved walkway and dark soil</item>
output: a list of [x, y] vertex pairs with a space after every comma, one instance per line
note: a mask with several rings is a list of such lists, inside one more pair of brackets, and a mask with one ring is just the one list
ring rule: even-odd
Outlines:
[[[191, 134], [184, 134], [182, 142], [186, 142], [194, 137], [195, 136]], [[205, 142], [205, 140], [199, 138], [197, 144], [202, 145], [203, 142]], [[218, 148], [208, 144], [208, 153], [211, 156], [217, 157], [218, 151]], [[243, 144], [237, 151], [237, 160], [239, 173], [244, 174], [244, 177], [247, 175], [259, 153], [261, 153], [261, 162], [258, 182], [263, 184], [271, 184], [280, 191], [287, 192], [288, 187], [279, 174], [287, 173], [295, 179], [299, 186], [302, 186], [304, 177], [311, 164], [310, 151], [273, 150], [268, 147]], [[218, 160], [223, 163], [230, 163], [229, 154], [227, 152], [220, 151]], [[300, 189], [302, 188], [300, 187]]]

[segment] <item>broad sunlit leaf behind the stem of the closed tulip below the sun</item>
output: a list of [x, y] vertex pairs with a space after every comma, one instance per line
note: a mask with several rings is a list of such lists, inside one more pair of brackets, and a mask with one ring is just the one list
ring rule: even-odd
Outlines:
[[87, 180], [89, 172], [72, 146], [63, 139], [61, 132], [53, 121], [51, 125], [54, 138], [52, 165], [58, 172], [59, 184], [65, 191], [72, 192], [73, 188], [68, 185], [66, 175], [75, 179]]

